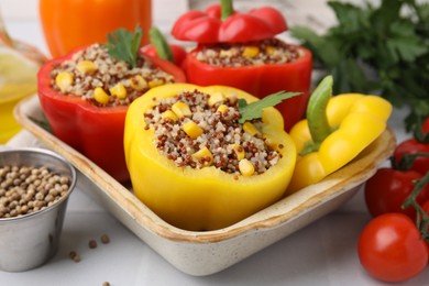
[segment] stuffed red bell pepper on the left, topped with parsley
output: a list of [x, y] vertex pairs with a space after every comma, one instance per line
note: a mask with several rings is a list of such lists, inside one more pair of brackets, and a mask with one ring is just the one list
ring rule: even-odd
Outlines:
[[172, 63], [140, 55], [140, 30], [134, 35], [119, 30], [109, 44], [50, 61], [37, 75], [38, 98], [55, 136], [119, 182], [130, 178], [123, 151], [129, 105], [152, 87], [185, 81]]

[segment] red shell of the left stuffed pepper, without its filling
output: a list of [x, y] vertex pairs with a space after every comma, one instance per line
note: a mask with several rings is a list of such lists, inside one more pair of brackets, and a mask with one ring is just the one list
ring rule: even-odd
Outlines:
[[[73, 54], [73, 53], [72, 53]], [[76, 148], [119, 182], [130, 175], [123, 151], [123, 131], [128, 107], [96, 107], [80, 97], [65, 96], [51, 86], [51, 70], [72, 57], [52, 59], [37, 74], [38, 99], [56, 138]], [[185, 75], [174, 64], [145, 56], [147, 61], [185, 82]]]

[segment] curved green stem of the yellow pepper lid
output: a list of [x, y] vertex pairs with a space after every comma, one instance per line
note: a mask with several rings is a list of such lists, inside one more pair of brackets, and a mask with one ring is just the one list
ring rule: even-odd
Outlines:
[[307, 120], [316, 150], [332, 132], [327, 118], [327, 106], [332, 95], [332, 76], [324, 77], [315, 91], [312, 91], [308, 102]]

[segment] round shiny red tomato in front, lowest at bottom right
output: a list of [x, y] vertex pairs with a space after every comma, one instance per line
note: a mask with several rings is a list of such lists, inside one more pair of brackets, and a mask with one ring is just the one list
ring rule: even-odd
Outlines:
[[358, 244], [362, 266], [384, 282], [404, 282], [428, 264], [428, 249], [414, 221], [403, 213], [385, 213], [371, 220]]

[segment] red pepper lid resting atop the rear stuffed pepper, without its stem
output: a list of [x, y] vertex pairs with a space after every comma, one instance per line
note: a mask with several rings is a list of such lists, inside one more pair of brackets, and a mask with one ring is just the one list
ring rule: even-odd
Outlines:
[[197, 43], [241, 43], [270, 38], [287, 30], [283, 14], [262, 7], [246, 13], [234, 12], [224, 21], [220, 6], [213, 4], [204, 12], [198, 10], [183, 14], [173, 25], [172, 35], [177, 40]]

